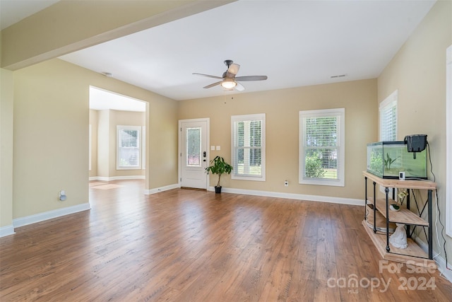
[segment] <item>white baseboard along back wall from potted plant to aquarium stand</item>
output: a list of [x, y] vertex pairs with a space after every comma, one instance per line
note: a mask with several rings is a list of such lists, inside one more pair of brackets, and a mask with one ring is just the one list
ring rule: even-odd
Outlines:
[[[209, 187], [209, 191], [215, 191], [215, 187]], [[295, 194], [295, 193], [283, 193], [283, 192], [269, 192], [269, 191], [258, 191], [258, 190], [243, 190], [243, 189], [233, 189], [228, 187], [222, 187], [221, 192], [234, 193], [234, 194], [245, 194], [245, 195], [256, 195], [264, 197], [276, 197], [276, 198], [287, 198], [287, 199], [300, 199], [307, 200], [311, 202], [331, 202], [333, 204], [352, 204], [354, 206], [364, 205], [363, 199], [352, 199], [343, 197], [331, 197], [331, 196], [320, 196], [320, 195], [307, 195], [307, 194]]]

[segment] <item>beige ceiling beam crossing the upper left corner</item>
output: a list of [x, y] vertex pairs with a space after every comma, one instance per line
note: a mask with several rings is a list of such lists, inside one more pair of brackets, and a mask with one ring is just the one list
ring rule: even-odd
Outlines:
[[17, 70], [237, 0], [62, 0], [1, 31], [1, 63]]

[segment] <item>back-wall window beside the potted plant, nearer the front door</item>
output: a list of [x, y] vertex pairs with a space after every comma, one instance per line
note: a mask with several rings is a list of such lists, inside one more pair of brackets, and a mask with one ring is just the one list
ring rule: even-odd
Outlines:
[[266, 115], [231, 117], [232, 179], [266, 180]]

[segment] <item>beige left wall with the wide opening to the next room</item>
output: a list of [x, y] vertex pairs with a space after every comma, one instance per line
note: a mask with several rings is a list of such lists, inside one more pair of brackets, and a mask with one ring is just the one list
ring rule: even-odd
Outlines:
[[[59, 59], [14, 71], [13, 79], [13, 218], [88, 202], [90, 85], [144, 100], [158, 110], [146, 117], [148, 140], [158, 141], [148, 153], [156, 169], [146, 188], [177, 183], [174, 100]], [[59, 202], [59, 190], [66, 190], [66, 202]]]

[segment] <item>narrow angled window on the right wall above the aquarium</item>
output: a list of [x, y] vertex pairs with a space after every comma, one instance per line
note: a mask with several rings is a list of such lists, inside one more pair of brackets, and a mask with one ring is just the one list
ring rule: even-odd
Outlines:
[[398, 91], [394, 91], [380, 103], [380, 141], [397, 140], [397, 99]]

